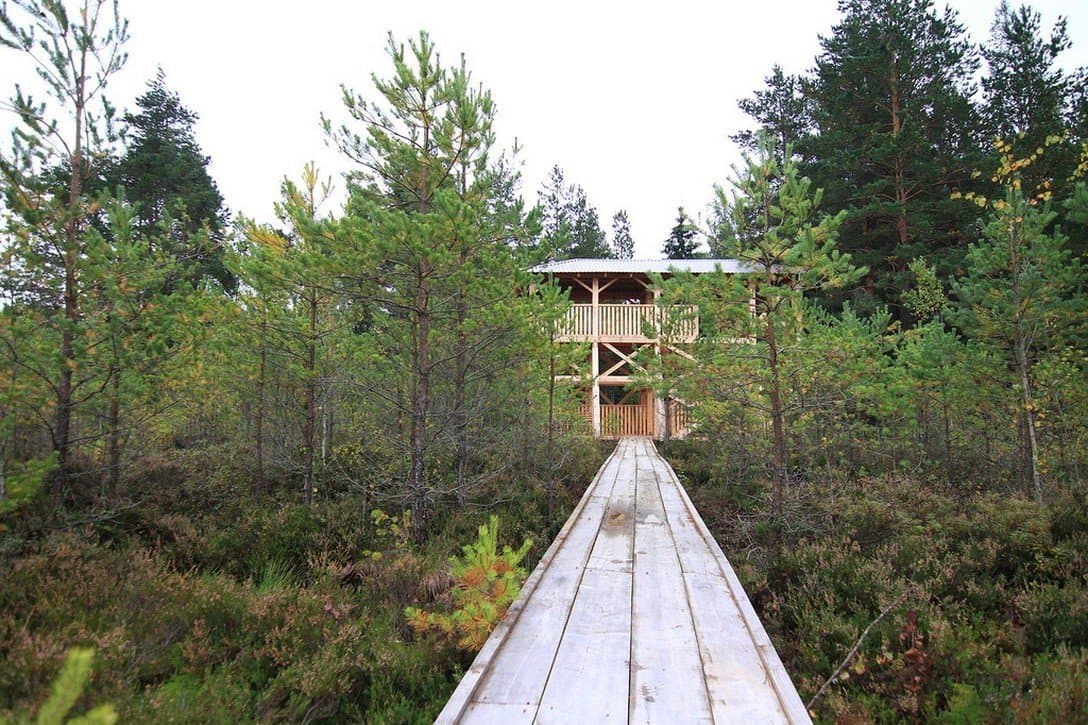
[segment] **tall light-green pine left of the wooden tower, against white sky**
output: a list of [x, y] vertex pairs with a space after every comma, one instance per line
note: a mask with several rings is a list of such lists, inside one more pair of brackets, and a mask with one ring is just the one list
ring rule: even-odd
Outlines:
[[490, 93], [463, 60], [443, 66], [425, 33], [407, 49], [391, 37], [388, 52], [394, 74], [375, 78], [376, 101], [344, 90], [360, 128], [325, 127], [359, 163], [336, 231], [355, 255], [344, 282], [371, 317], [372, 365], [358, 383], [405, 421], [405, 499], [422, 538], [445, 478], [438, 453], [454, 462], [449, 490], [468, 480], [470, 445], [484, 438], [468, 406], [502, 388], [495, 366], [519, 314], [511, 285], [528, 279], [508, 245], [522, 236], [520, 208], [505, 201], [509, 174], [491, 153]]

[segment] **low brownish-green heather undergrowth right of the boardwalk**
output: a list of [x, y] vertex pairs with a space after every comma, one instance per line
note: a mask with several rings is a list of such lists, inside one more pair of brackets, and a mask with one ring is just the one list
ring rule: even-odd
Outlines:
[[751, 482], [717, 479], [725, 467], [673, 450], [802, 700], [858, 644], [814, 704], [817, 721], [1077, 722], [1084, 712], [1083, 497], [1040, 507], [902, 472], [815, 479], [792, 486], [782, 520], [769, 523]]

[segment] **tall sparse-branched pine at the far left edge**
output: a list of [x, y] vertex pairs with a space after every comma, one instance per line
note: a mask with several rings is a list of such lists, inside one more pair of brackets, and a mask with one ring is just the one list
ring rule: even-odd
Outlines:
[[48, 429], [58, 482], [71, 472], [73, 415], [95, 391], [78, 391], [89, 378], [76, 377], [87, 349], [85, 268], [95, 243], [86, 232], [99, 205], [88, 182], [112, 143], [113, 108], [103, 94], [124, 65], [126, 39], [127, 22], [109, 0], [83, 0], [72, 12], [38, 0], [14, 12], [0, 5], [0, 46], [21, 53], [55, 100], [51, 108], [16, 85], [11, 106], [21, 127], [11, 152], [0, 155], [0, 173], [20, 273], [39, 295], [42, 324], [55, 335], [54, 364], [38, 372], [54, 392]]

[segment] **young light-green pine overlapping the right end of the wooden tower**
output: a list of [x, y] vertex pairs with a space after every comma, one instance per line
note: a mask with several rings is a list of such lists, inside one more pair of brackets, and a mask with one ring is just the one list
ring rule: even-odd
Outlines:
[[[789, 149], [779, 153], [764, 136], [757, 156], [746, 156], [732, 192], [717, 189], [725, 210], [722, 251], [750, 268], [745, 275], [701, 275], [700, 315], [715, 333], [696, 357], [692, 396], [722, 390], [742, 409], [770, 418], [772, 515], [782, 512], [789, 481], [787, 391], [799, 354], [805, 296], [842, 287], [865, 273], [838, 248], [844, 212], [818, 213], [821, 193], [800, 175]], [[682, 283], [682, 282], [681, 282]], [[754, 306], [754, 308], [753, 308]], [[714, 380], [718, 378], [719, 380]], [[735, 396], [741, 396], [738, 401]]]

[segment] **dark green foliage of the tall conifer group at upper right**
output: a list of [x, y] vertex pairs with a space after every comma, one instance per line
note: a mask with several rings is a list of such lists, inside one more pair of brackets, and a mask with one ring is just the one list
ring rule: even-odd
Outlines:
[[1065, 19], [1048, 30], [1029, 5], [1002, 2], [980, 50], [955, 11], [931, 0], [842, 0], [839, 10], [808, 73], [775, 66], [739, 102], [757, 125], [732, 139], [751, 149], [762, 132], [792, 148], [825, 191], [824, 208], [848, 212], [843, 248], [870, 270], [848, 297], [861, 310], [887, 304], [902, 312], [912, 259], [944, 282], [964, 273], [979, 209], [953, 195], [997, 192], [996, 138], [1019, 158], [1036, 157], [1025, 184], [1070, 197], [1088, 136], [1085, 70], [1059, 64], [1072, 45]]

